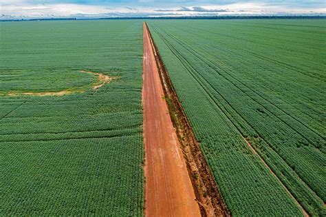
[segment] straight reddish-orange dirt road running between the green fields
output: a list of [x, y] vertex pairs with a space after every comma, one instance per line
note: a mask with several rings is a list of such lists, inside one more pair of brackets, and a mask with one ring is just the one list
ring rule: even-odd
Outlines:
[[145, 145], [145, 216], [200, 216], [186, 163], [173, 128], [155, 63], [153, 48], [143, 25]]

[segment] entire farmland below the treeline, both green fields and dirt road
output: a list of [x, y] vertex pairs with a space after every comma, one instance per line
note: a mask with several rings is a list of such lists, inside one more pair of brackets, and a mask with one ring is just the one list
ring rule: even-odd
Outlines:
[[326, 20], [146, 23], [0, 23], [0, 216], [325, 216]]

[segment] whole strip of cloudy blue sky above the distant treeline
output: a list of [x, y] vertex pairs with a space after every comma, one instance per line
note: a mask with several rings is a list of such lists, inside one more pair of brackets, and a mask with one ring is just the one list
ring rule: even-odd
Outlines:
[[326, 0], [1, 0], [0, 19], [325, 15]]

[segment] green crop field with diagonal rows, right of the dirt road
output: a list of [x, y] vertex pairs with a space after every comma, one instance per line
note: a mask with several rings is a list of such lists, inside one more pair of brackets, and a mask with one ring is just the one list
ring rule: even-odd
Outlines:
[[325, 215], [325, 19], [148, 24], [231, 214]]

